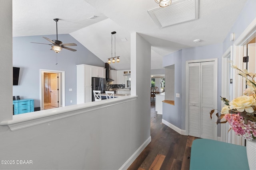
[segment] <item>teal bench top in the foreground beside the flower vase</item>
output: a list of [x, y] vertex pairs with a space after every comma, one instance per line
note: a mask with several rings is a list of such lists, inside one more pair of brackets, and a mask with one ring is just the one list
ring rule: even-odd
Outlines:
[[190, 170], [249, 170], [246, 147], [196, 139], [191, 147]]

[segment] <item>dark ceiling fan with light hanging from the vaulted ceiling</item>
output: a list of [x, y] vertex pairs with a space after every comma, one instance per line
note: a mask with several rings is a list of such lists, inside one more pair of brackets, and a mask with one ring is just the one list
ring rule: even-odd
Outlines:
[[[43, 37], [44, 39], [46, 39], [46, 40], [48, 40], [48, 41], [50, 41], [52, 43], [52, 44], [46, 44], [46, 45], [52, 45], [52, 48], [50, 50], [53, 50], [55, 53], [59, 53], [62, 50], [62, 48], [70, 50], [70, 51], [76, 51], [76, 49], [65, 47], [65, 46], [77, 46], [75, 43], [62, 44], [62, 42], [58, 40], [58, 25], [57, 25], [57, 22], [58, 22], [59, 19], [58, 18], [54, 18], [53, 20], [56, 21], [56, 35], [57, 35], [57, 39], [50, 40], [47, 37]], [[34, 43], [34, 42], [31, 42], [31, 43]], [[45, 43], [37, 43], [37, 44], [45, 44]]]

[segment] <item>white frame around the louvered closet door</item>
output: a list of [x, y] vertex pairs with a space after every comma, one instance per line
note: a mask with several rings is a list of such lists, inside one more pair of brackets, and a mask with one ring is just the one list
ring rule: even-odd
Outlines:
[[[214, 69], [215, 69], [215, 84], [214, 84], [214, 91], [216, 92], [214, 96], [214, 108], [218, 107], [218, 58], [214, 59], [202, 59], [202, 60], [192, 60], [186, 61], [186, 135], [188, 135], [188, 63], [201, 63], [201, 62], [209, 62], [214, 61]], [[209, 114], [210, 119], [210, 114]], [[213, 117], [213, 121], [216, 122], [216, 117]], [[218, 129], [217, 126], [214, 126], [214, 140], [218, 138]]]

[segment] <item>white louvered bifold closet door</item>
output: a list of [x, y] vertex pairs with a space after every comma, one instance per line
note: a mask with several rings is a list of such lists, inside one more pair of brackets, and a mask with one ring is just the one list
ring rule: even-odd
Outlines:
[[188, 135], [214, 139], [216, 78], [214, 61], [188, 64]]

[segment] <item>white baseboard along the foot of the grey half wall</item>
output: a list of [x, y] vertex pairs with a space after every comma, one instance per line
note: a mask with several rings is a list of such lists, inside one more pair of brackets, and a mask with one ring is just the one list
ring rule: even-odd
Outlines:
[[151, 136], [132, 154], [132, 156], [119, 168], [119, 170], [127, 170], [134, 160], [139, 156], [143, 149], [151, 142]]

